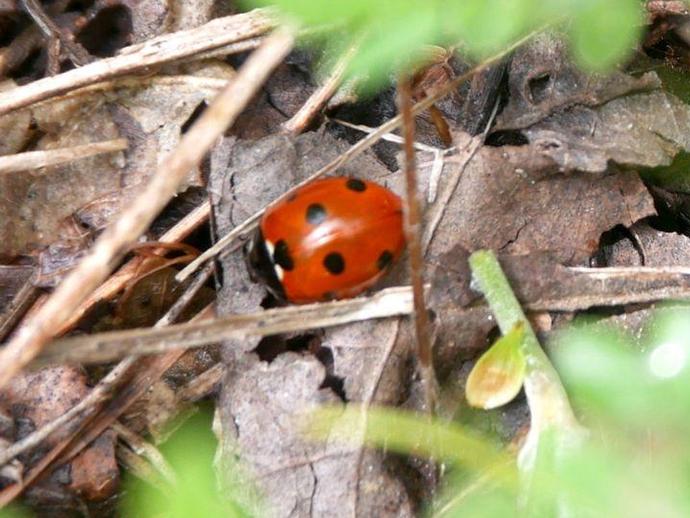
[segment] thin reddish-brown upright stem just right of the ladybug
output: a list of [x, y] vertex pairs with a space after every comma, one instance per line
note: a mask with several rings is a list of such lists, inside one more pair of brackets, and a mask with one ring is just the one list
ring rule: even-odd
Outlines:
[[417, 197], [417, 169], [415, 166], [414, 126], [412, 115], [412, 83], [409, 77], [398, 81], [399, 111], [403, 118], [403, 146], [405, 152], [405, 238], [410, 257], [410, 280], [414, 299], [414, 323], [417, 339], [417, 357], [424, 385], [426, 411], [434, 413], [436, 403], [436, 376], [431, 357], [431, 340], [429, 339], [429, 314], [424, 302], [424, 253], [421, 245], [421, 209]]

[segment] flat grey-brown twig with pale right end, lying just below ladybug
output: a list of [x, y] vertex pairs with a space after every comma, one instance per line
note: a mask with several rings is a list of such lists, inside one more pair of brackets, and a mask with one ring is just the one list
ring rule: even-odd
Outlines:
[[381, 290], [370, 297], [275, 308], [208, 322], [62, 338], [46, 348], [37, 363], [111, 361], [130, 354], [161, 353], [223, 340], [303, 331], [411, 312], [412, 290], [402, 286]]

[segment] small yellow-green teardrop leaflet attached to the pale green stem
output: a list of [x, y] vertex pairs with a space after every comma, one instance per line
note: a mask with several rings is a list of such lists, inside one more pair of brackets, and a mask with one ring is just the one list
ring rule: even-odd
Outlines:
[[517, 396], [525, 379], [522, 341], [525, 327], [518, 322], [477, 361], [467, 378], [465, 396], [473, 407], [490, 409], [510, 402]]

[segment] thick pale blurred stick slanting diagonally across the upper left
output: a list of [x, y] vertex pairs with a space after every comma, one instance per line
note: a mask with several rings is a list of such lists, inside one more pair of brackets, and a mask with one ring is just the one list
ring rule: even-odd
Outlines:
[[55, 336], [72, 311], [102, 283], [128, 248], [144, 233], [216, 139], [234, 122], [270, 72], [292, 49], [293, 36], [279, 30], [247, 59], [237, 77], [214, 99], [158, 166], [144, 192], [109, 226], [70, 275], [0, 351], [0, 387]]

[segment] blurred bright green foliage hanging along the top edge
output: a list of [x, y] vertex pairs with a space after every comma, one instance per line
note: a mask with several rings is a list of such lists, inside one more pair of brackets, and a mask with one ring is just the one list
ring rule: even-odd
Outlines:
[[[423, 46], [457, 47], [486, 59], [532, 31], [572, 18], [570, 36], [581, 64], [605, 70], [625, 58], [643, 21], [638, 0], [245, 0], [272, 5], [293, 23], [312, 29], [312, 44], [349, 48], [359, 43], [348, 69], [371, 91], [391, 76], [419, 66]], [[316, 32], [314, 32], [316, 29]]]

